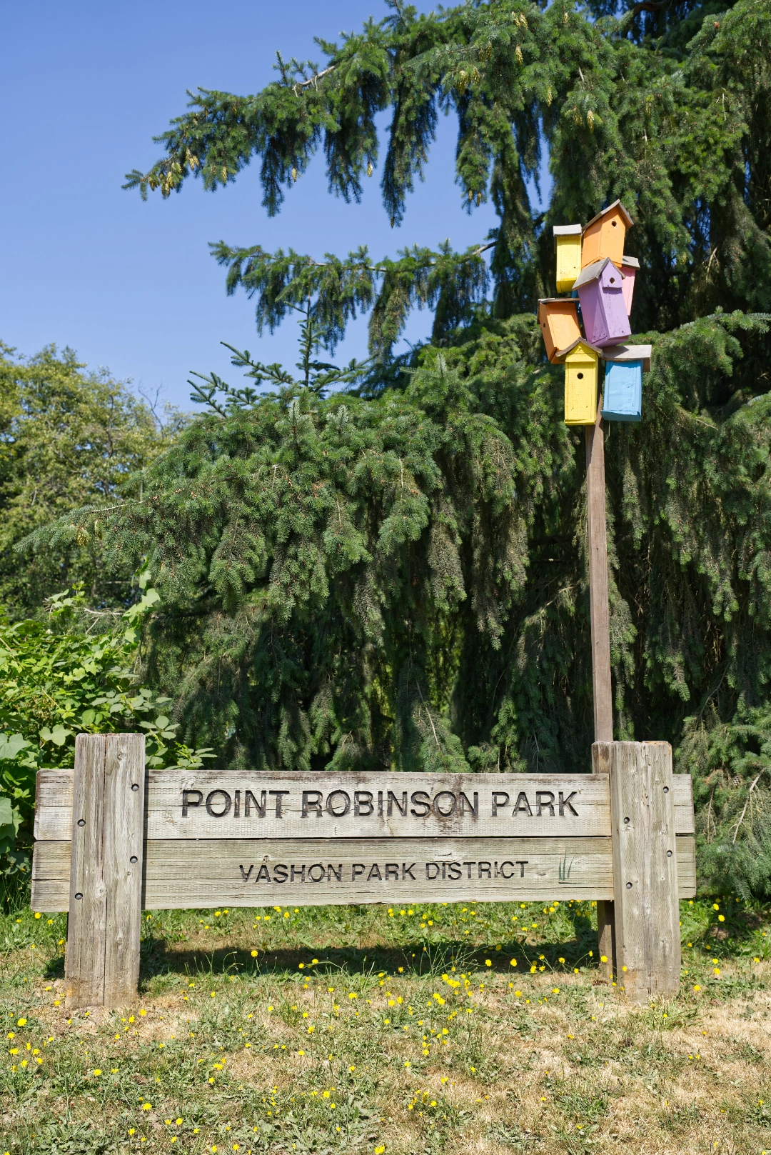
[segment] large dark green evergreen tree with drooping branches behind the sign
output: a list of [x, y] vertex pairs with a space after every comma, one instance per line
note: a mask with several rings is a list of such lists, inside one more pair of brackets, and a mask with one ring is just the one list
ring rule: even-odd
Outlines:
[[[309, 303], [331, 352], [370, 310], [373, 364], [324, 398], [237, 353], [278, 392], [209, 379], [211, 411], [134, 501], [46, 539], [149, 558], [149, 669], [190, 744], [257, 769], [587, 769], [583, 438], [533, 312], [553, 292], [552, 224], [620, 196], [642, 266], [632, 326], [654, 353], [643, 423], [606, 438], [615, 735], [678, 745], [704, 878], [768, 893], [771, 9], [391, 9], [320, 42], [322, 64], [279, 58], [255, 96], [199, 90], [129, 185], [215, 188], [259, 156], [276, 213], [323, 146], [331, 191], [358, 199], [391, 109], [397, 225], [451, 111], [463, 203], [492, 199], [499, 226], [467, 253], [377, 261], [214, 246], [260, 331]], [[545, 148], [540, 214], [527, 181]], [[407, 365], [391, 349], [416, 304], [434, 328]]]

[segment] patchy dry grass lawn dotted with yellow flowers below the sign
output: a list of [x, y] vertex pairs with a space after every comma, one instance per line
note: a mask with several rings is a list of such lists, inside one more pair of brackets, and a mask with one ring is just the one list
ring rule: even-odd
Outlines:
[[771, 911], [681, 918], [638, 1007], [589, 902], [148, 914], [139, 1005], [70, 1013], [66, 916], [12, 911], [0, 1155], [771, 1152]]

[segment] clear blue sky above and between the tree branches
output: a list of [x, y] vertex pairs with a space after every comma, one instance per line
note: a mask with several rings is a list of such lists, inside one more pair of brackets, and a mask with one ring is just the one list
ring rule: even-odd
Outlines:
[[[321, 155], [272, 219], [261, 207], [256, 165], [214, 194], [199, 181], [167, 201], [155, 194], [143, 203], [139, 193], [121, 191], [127, 171], [147, 169], [159, 155], [151, 137], [184, 111], [186, 89], [257, 91], [274, 76], [277, 49], [319, 60], [314, 36], [336, 39], [370, 14], [382, 18], [384, 5], [44, 0], [7, 7], [0, 340], [22, 353], [69, 344], [89, 367], [105, 366], [145, 390], [160, 387], [187, 409], [190, 370], [239, 381], [219, 341], [265, 362], [297, 357], [294, 321], [257, 338], [253, 305], [244, 295], [225, 295], [208, 241], [293, 246], [314, 256], [367, 244], [382, 256], [447, 237], [456, 248], [484, 239], [495, 217], [489, 206], [471, 216], [461, 207], [452, 119], [440, 121], [427, 179], [410, 198], [401, 229], [392, 230], [383, 211], [379, 170], [362, 202], [345, 204], [327, 192]], [[429, 320], [416, 313], [407, 338], [424, 336]], [[359, 321], [336, 358], [365, 355], [366, 322]]]

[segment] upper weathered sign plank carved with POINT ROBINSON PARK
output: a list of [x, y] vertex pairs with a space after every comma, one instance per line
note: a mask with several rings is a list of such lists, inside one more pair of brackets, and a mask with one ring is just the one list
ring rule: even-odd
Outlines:
[[[427, 789], [427, 783], [431, 789]], [[187, 796], [184, 807], [184, 791], [197, 791], [201, 803], [190, 805], [197, 792]], [[227, 813], [222, 812], [227, 798], [215, 795], [210, 800], [212, 814], [205, 808], [209, 796], [223, 790], [230, 798]], [[289, 790], [289, 793], [278, 791]], [[349, 811], [335, 817], [330, 808]], [[412, 796], [425, 791], [426, 798], [412, 802]], [[570, 798], [571, 793], [576, 796]], [[252, 797], [248, 799], [247, 791]], [[316, 793], [321, 792], [321, 817], [315, 808]], [[357, 791], [372, 795], [372, 814], [368, 800], [359, 798]], [[389, 791], [391, 797], [389, 798]], [[444, 793], [447, 791], [447, 793]], [[263, 806], [264, 817], [260, 811]], [[306, 815], [302, 817], [302, 795], [306, 793]], [[540, 797], [540, 814], [539, 802]], [[235, 798], [238, 793], [238, 817]], [[407, 795], [405, 802], [405, 793]], [[463, 803], [459, 795], [464, 793]], [[497, 798], [493, 806], [493, 795]], [[524, 798], [521, 795], [524, 793]], [[553, 803], [548, 795], [554, 796]], [[562, 814], [560, 814], [560, 793]], [[382, 795], [383, 813], [379, 814]], [[436, 808], [451, 814], [439, 817]], [[472, 813], [477, 795], [478, 817]], [[503, 803], [502, 796], [508, 796]], [[675, 829], [678, 834], [694, 833], [694, 804], [691, 781], [687, 774], [673, 776], [675, 805]], [[441, 797], [440, 797], [441, 796]], [[255, 802], [252, 800], [255, 799]], [[276, 815], [280, 799], [280, 817]], [[467, 799], [467, 802], [466, 802]], [[566, 799], [570, 799], [566, 804]], [[501, 805], [499, 805], [499, 802]], [[389, 806], [390, 803], [390, 806]], [[526, 805], [525, 805], [526, 804]], [[37, 776], [37, 803], [35, 813], [35, 837], [42, 841], [61, 841], [70, 837], [73, 806], [73, 770], [39, 770]], [[554, 810], [554, 814], [551, 812]], [[517, 808], [516, 815], [514, 814]], [[527, 813], [530, 808], [530, 814]], [[186, 808], [187, 813], [182, 813]], [[354, 811], [358, 808], [359, 813]], [[390, 808], [390, 814], [389, 814]], [[495, 815], [493, 817], [493, 808]], [[418, 811], [418, 815], [412, 811]], [[571, 810], [576, 811], [574, 815]], [[402, 813], [405, 811], [405, 813]], [[463, 813], [462, 813], [463, 811]], [[422, 817], [420, 817], [422, 815]], [[606, 836], [611, 833], [609, 793], [606, 775], [530, 775], [530, 774], [471, 774], [471, 775], [422, 775], [422, 774], [293, 774], [274, 777], [248, 770], [149, 770], [147, 836], [150, 839], [196, 839], [196, 837], [410, 837], [410, 836]]]

